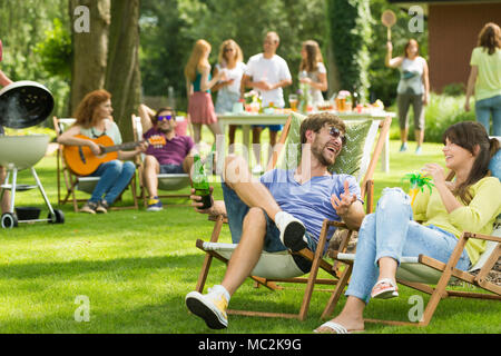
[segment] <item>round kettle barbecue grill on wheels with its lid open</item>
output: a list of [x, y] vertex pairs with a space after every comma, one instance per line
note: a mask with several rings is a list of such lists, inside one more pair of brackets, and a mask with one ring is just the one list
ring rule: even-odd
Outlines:
[[[50, 91], [35, 81], [17, 81], [0, 90], [0, 125], [20, 129], [36, 126], [50, 115], [53, 98]], [[3, 191], [11, 190], [10, 211], [2, 214], [2, 228], [17, 227], [19, 222], [65, 222], [61, 210], [52, 209], [33, 166], [43, 158], [50, 137], [48, 135], [0, 136], [0, 166], [7, 169]], [[19, 185], [18, 172], [30, 169], [36, 185]], [[19, 220], [16, 211], [16, 191], [38, 188], [49, 209], [47, 219]]]

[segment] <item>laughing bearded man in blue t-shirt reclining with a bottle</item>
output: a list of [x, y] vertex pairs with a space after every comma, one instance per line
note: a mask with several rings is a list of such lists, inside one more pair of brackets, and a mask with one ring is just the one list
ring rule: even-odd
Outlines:
[[[365, 212], [356, 179], [327, 170], [341, 152], [345, 131], [335, 115], [311, 115], [301, 125], [303, 148], [296, 169], [274, 169], [257, 180], [245, 159], [229, 156], [223, 172], [224, 201], [199, 210], [199, 197], [191, 196], [197, 211], [228, 217], [232, 240], [238, 244], [222, 284], [206, 295], [191, 291], [186, 296], [188, 309], [208, 327], [227, 327], [229, 298], [250, 275], [263, 250], [315, 251], [326, 218], [343, 220], [348, 228], [360, 227]], [[333, 234], [334, 228], [327, 239]], [[294, 256], [294, 261], [304, 273], [311, 268], [302, 257]]]

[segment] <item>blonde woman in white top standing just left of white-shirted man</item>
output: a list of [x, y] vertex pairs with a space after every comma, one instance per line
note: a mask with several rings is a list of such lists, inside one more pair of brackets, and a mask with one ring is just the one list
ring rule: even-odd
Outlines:
[[[246, 65], [240, 47], [234, 40], [224, 41], [219, 47], [218, 63], [214, 69], [214, 77], [219, 71], [225, 72], [226, 80], [219, 80], [213, 90], [217, 90], [216, 112], [232, 112], [233, 106], [240, 99], [240, 81]], [[229, 146], [235, 142], [236, 125], [229, 125]]]

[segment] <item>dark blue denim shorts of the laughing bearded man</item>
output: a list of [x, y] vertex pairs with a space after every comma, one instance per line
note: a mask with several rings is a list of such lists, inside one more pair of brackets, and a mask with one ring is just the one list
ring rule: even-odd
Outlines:
[[[228, 216], [229, 231], [232, 233], [232, 243], [238, 244], [242, 238], [242, 228], [244, 226], [244, 219], [249, 210], [249, 207], [245, 205], [244, 201], [242, 201], [238, 195], [235, 192], [235, 190], [228, 188], [228, 186], [226, 186], [224, 181], [220, 185], [223, 187], [223, 196], [226, 206], [226, 214]], [[281, 241], [279, 238], [281, 231], [276, 227], [275, 221], [273, 221], [268, 217], [265, 210], [263, 210], [263, 214], [266, 219], [266, 236], [264, 239], [263, 249], [267, 253], [277, 253], [286, 250], [287, 248]], [[312, 251], [315, 251], [316, 241], [313, 239], [313, 237], [310, 235], [308, 231], [306, 231], [306, 238], [308, 240], [308, 248]], [[301, 270], [303, 270], [304, 273], [310, 271], [310, 269], [312, 268], [312, 263], [308, 259], [305, 259], [304, 257], [298, 255], [292, 256]]]

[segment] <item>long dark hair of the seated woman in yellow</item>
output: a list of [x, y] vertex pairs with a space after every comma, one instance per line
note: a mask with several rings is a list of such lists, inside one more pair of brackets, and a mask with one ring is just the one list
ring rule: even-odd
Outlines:
[[497, 138], [490, 139], [485, 128], [480, 122], [474, 121], [462, 121], [452, 125], [443, 132], [442, 141], [444, 145], [445, 139], [466, 149], [472, 155], [475, 155], [475, 147], [479, 147], [470, 175], [465, 181], [460, 184], [452, 191], [465, 204], [470, 204], [473, 199], [470, 194], [470, 186], [490, 175], [489, 162], [499, 150], [499, 141]]

